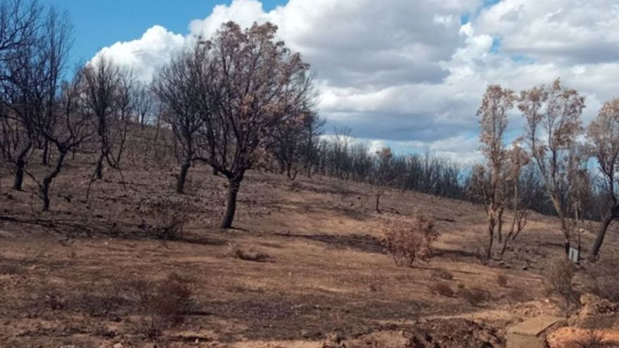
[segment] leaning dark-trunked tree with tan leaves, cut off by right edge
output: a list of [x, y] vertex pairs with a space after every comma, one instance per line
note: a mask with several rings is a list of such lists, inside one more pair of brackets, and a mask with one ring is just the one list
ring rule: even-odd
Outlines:
[[604, 181], [602, 187], [609, 202], [591, 247], [590, 257], [596, 259], [608, 226], [619, 219], [619, 98], [604, 104], [596, 119], [589, 124], [587, 139], [592, 143], [592, 154], [597, 160]]

